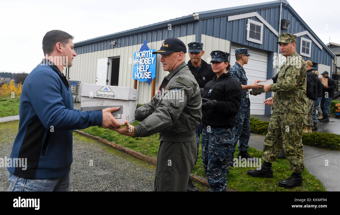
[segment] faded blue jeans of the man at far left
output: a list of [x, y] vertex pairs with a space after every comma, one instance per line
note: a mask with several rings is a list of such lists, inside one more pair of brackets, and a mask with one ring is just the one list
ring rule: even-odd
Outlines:
[[70, 191], [70, 172], [53, 179], [25, 179], [8, 172], [8, 191]]

